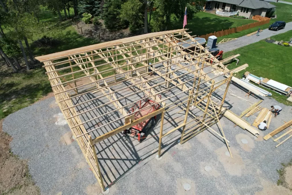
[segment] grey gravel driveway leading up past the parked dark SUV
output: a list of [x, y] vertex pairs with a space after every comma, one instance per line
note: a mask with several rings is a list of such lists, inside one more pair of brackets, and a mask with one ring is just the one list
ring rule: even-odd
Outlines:
[[[217, 46], [218, 46], [218, 49], [223, 50], [224, 52], [232, 51], [239, 47], [243, 47], [255, 42], [259, 42], [260, 40], [266, 39], [276, 34], [287, 32], [289, 30], [292, 30], [292, 22], [286, 23], [286, 27], [279, 31], [272, 31], [272, 30], [265, 29], [263, 30], [263, 32], [260, 32], [260, 36], [258, 37], [256, 35], [252, 35], [250, 37], [243, 36], [243, 37], [239, 37], [238, 39], [234, 41], [218, 44]], [[291, 37], [292, 37], [292, 34], [291, 34]]]

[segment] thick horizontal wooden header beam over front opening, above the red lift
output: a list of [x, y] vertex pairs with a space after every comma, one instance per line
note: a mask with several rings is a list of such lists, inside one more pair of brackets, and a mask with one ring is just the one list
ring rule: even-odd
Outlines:
[[105, 134], [103, 134], [103, 135], [101, 135], [101, 136], [93, 139], [92, 142], [93, 142], [93, 144], [96, 144], [96, 143], [98, 143], [98, 142], [100, 142], [100, 141], [102, 141], [104, 139], [107, 139], [107, 138], [109, 138], [109, 137], [111, 137], [111, 136], [113, 136], [113, 135], [115, 135], [115, 134], [117, 134], [119, 132], [122, 132], [122, 131], [124, 131], [124, 130], [126, 130], [126, 129], [134, 126], [134, 125], [137, 125], [138, 123], [143, 122], [144, 120], [150, 119], [150, 118], [152, 118], [152, 117], [154, 117], [154, 116], [162, 113], [163, 111], [164, 111], [164, 108], [160, 108], [157, 111], [154, 111], [152, 113], [149, 113], [149, 114], [147, 114], [147, 115], [145, 115], [145, 116], [143, 116], [141, 118], [138, 118], [137, 120], [134, 120], [131, 123], [128, 123], [126, 125], [123, 125], [121, 127], [118, 127], [117, 129], [112, 130], [110, 132], [107, 132], [107, 133], [105, 133]]

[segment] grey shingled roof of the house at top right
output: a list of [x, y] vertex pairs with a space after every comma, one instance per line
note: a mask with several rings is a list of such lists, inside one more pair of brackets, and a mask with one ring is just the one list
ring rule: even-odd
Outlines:
[[[213, 0], [207, 0], [213, 1]], [[273, 4], [270, 4], [267, 1], [263, 0], [216, 0], [223, 3], [234, 4], [241, 7], [251, 8], [251, 9], [260, 9], [260, 8], [274, 8]]]

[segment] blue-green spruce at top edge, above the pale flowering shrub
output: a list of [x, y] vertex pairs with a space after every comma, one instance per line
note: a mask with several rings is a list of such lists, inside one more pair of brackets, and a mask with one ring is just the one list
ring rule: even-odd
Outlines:
[[101, 0], [81, 0], [79, 2], [80, 13], [90, 13], [92, 16], [100, 15]]

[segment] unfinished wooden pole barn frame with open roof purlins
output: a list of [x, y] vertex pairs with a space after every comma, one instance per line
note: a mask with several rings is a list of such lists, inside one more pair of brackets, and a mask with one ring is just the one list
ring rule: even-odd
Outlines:
[[[103, 191], [105, 185], [95, 151], [95, 144], [98, 142], [159, 114], [161, 122], [158, 158], [161, 156], [162, 138], [176, 130], [182, 130], [180, 144], [207, 128], [215, 132], [211, 125], [219, 122], [218, 116], [232, 73], [236, 72], [236, 69], [228, 70], [227, 65], [222, 63], [224, 60], [218, 61], [186, 30], [143, 34], [36, 57], [44, 63], [56, 101]], [[188, 40], [190, 44], [186, 44]], [[211, 71], [204, 72], [205, 70]], [[214, 79], [220, 75], [213, 78], [208, 75], [215, 70], [223, 72], [226, 78], [215, 82]], [[212, 101], [212, 93], [223, 84], [227, 87], [221, 102]], [[119, 89], [115, 89], [117, 87]], [[131, 88], [135, 90], [130, 90]], [[174, 89], [179, 89], [180, 92], [166, 95]], [[125, 95], [119, 95], [125, 91]], [[91, 98], [88, 100], [80, 103], [77, 101], [89, 95]], [[180, 98], [175, 99], [178, 96]], [[100, 99], [106, 99], [108, 102], [77, 112], [84, 108], [85, 104]], [[160, 108], [135, 120], [134, 115], [141, 110], [131, 112], [131, 108], [147, 99], [159, 103]], [[112, 105], [111, 110], [106, 110], [96, 117], [87, 117], [86, 120], [80, 118], [81, 115]], [[148, 107], [150, 106], [152, 105]], [[193, 115], [189, 112], [191, 106], [196, 106], [203, 114]], [[164, 115], [176, 108], [183, 108], [185, 118], [181, 124], [164, 132]], [[188, 120], [189, 115], [194, 118]], [[94, 128], [86, 128], [87, 124], [93, 121], [98, 121], [97, 127], [95, 125]], [[113, 128], [113, 124], [117, 124], [116, 128]], [[221, 125], [219, 126], [222, 135], [215, 133], [225, 140], [229, 150], [229, 141]], [[98, 134], [94, 139], [93, 133]]]

